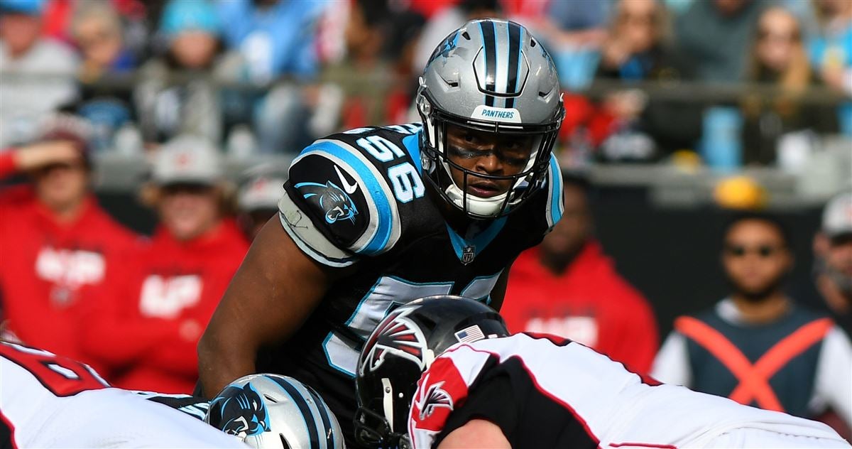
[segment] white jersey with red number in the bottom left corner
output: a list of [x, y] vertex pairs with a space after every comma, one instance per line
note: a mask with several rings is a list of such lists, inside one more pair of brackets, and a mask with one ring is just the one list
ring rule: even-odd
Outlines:
[[0, 446], [245, 448], [89, 366], [13, 343], [0, 343]]

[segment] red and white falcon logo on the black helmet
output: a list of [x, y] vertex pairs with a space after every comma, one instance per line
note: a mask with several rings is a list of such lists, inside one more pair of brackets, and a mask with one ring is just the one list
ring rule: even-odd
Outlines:
[[426, 337], [423, 337], [423, 331], [411, 319], [406, 318], [411, 312], [412, 309], [394, 312], [373, 331], [366, 343], [369, 351], [360, 367], [361, 373], [381, 366], [388, 353], [411, 360], [421, 370], [425, 368], [423, 355], [426, 352]]

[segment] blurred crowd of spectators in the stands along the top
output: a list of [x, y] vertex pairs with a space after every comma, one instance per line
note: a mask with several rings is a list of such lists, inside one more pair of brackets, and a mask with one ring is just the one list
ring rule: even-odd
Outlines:
[[[238, 157], [298, 153], [335, 130], [413, 121], [435, 43], [486, 16], [550, 49], [567, 164], [694, 153], [795, 169], [815, 137], [852, 135], [844, 0], [3, 0], [0, 14], [0, 147], [62, 109], [89, 120], [96, 151], [192, 134]], [[672, 97], [648, 83], [775, 89]]]

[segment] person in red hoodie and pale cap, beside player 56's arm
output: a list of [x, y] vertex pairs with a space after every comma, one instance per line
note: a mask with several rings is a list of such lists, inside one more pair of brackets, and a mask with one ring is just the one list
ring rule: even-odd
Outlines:
[[[124, 389], [191, 393], [195, 347], [248, 244], [224, 216], [216, 148], [182, 135], [157, 154], [143, 200], [160, 225], [149, 248], [117, 279], [85, 335], [91, 354]], [[113, 306], [113, 307], [110, 307]]]

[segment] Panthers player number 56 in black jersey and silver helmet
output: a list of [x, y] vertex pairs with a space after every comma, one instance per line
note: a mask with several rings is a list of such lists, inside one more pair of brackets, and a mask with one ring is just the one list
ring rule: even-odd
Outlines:
[[349, 130], [293, 161], [199, 343], [211, 397], [254, 372], [314, 385], [353, 435], [366, 337], [412, 298], [499, 309], [508, 268], [561, 217], [556, 67], [523, 26], [472, 20], [420, 79], [421, 124]]

